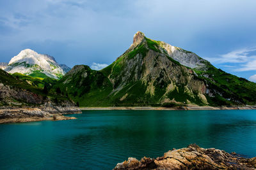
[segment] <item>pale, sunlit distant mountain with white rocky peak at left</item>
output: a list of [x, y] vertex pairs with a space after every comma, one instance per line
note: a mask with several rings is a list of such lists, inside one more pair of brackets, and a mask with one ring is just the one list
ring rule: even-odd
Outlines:
[[[62, 66], [66, 71], [67, 66]], [[13, 57], [4, 69], [8, 73], [22, 73], [36, 78], [61, 78], [66, 71], [50, 55], [36, 53], [33, 50], [22, 50]]]

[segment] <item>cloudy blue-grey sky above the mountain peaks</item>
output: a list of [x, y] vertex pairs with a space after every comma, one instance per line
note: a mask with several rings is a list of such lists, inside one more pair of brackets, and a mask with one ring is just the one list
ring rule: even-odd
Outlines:
[[0, 62], [30, 48], [101, 69], [137, 31], [256, 82], [255, 0], [0, 0]]

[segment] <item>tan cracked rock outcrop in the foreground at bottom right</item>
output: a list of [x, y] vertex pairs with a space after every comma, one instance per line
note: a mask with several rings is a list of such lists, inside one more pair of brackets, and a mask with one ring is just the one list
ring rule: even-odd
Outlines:
[[214, 148], [204, 149], [197, 145], [188, 148], [173, 149], [163, 157], [150, 159], [143, 157], [140, 161], [129, 158], [118, 163], [114, 169], [255, 169], [256, 157], [244, 159], [236, 153], [230, 154]]

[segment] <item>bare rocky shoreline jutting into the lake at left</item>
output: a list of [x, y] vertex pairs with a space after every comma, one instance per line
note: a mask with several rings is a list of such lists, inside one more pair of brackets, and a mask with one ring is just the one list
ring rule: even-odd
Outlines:
[[0, 124], [76, 119], [64, 116], [72, 113], [82, 112], [76, 106], [54, 106], [52, 103], [45, 103], [42, 106], [2, 106], [0, 107]]

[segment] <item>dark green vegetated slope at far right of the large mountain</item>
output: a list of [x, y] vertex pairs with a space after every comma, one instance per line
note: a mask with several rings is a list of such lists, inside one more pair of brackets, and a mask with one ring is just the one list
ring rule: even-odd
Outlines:
[[255, 104], [256, 83], [225, 73], [210, 64], [205, 71], [194, 70], [198, 78], [215, 91], [215, 97], [207, 97], [211, 105]]

